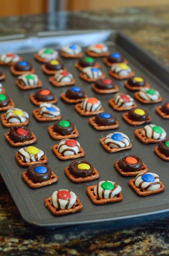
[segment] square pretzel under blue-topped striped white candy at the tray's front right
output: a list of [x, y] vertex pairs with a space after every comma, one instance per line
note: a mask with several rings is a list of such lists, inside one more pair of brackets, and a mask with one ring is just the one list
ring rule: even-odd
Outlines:
[[151, 190], [143, 190], [142, 188], [138, 188], [135, 183], [134, 183], [135, 179], [129, 180], [129, 185], [132, 187], [132, 189], [139, 195], [139, 196], [148, 196], [151, 194], [157, 194], [159, 192], [162, 192], [165, 190], [165, 185], [160, 181], [160, 185], [161, 187], [158, 188], [155, 191], [151, 191]]

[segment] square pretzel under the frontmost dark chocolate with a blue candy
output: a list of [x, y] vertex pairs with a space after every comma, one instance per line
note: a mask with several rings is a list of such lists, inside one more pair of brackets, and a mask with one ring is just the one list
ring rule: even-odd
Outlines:
[[46, 185], [51, 185], [55, 182], [57, 182], [58, 177], [54, 172], [51, 173], [51, 178], [49, 180], [45, 180], [43, 182], [34, 182], [33, 180], [30, 180], [28, 178], [27, 172], [22, 173], [22, 178], [25, 180], [25, 182], [29, 185], [31, 188], [40, 188]]

